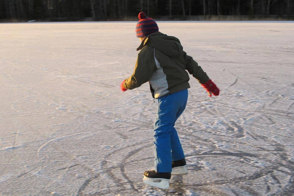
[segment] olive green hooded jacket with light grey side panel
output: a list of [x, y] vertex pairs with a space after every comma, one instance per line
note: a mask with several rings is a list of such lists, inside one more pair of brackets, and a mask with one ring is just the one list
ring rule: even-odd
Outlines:
[[190, 88], [187, 71], [201, 84], [209, 80], [198, 63], [183, 51], [176, 37], [152, 33], [145, 37], [138, 50], [141, 51], [134, 73], [123, 83], [126, 89], [137, 88], [149, 81], [152, 96], [158, 98]]

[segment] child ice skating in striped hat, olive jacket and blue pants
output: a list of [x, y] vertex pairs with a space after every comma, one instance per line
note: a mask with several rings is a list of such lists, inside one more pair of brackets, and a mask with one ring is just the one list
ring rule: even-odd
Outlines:
[[[186, 174], [186, 161], [175, 121], [183, 113], [190, 85], [187, 71], [211, 94], [219, 89], [183, 51], [180, 41], [159, 32], [156, 22], [140, 12], [136, 36], [140, 39], [134, 73], [121, 83], [121, 90], [134, 89], [149, 81], [153, 98], [158, 99], [154, 124], [155, 168], [144, 173], [143, 182], [168, 188], [171, 174]], [[186, 71], [187, 70], [187, 71]]]

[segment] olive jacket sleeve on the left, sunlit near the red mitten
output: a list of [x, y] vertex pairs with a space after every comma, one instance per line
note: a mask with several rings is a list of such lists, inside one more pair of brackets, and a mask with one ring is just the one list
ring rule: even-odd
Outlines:
[[156, 69], [154, 54], [152, 52], [154, 49], [147, 47], [139, 52], [134, 72], [123, 84], [126, 89], [140, 87], [142, 84], [149, 81], [153, 71]]

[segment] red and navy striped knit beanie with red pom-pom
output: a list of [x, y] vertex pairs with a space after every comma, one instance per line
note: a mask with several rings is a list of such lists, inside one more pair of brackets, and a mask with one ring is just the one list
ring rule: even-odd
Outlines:
[[140, 12], [138, 15], [140, 19], [136, 26], [136, 36], [145, 37], [151, 33], [158, 32], [158, 26], [152, 18], [146, 17], [144, 12]]

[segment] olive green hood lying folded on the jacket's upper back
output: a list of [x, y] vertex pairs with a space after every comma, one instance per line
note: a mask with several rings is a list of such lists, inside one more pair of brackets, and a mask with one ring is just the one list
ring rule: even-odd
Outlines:
[[177, 57], [183, 53], [183, 47], [178, 38], [165, 35], [161, 32], [152, 33], [145, 37], [141, 45], [137, 48], [137, 51], [146, 45], [155, 47], [170, 57]]

